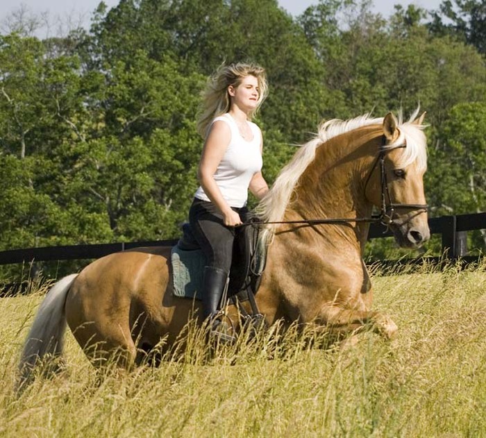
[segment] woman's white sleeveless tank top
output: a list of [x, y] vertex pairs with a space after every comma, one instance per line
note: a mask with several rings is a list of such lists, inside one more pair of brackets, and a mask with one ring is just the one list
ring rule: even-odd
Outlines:
[[[248, 199], [248, 187], [251, 178], [262, 169], [260, 128], [251, 121], [248, 122], [251, 133], [253, 133], [253, 140], [248, 142], [244, 140], [235, 119], [228, 112], [215, 117], [212, 123], [217, 120], [225, 121], [228, 124], [231, 129], [231, 140], [221, 162], [219, 162], [214, 178], [228, 205], [230, 207], [243, 207]], [[210, 201], [201, 186], [194, 196], [203, 201]]]

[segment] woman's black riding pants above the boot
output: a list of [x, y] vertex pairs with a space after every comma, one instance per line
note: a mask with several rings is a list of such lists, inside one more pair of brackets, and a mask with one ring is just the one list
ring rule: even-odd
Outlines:
[[[242, 222], [249, 217], [246, 207], [232, 209]], [[223, 223], [223, 215], [212, 202], [194, 199], [189, 210], [192, 233], [206, 256], [206, 266], [224, 269], [229, 273], [233, 257], [233, 242], [237, 228]]]

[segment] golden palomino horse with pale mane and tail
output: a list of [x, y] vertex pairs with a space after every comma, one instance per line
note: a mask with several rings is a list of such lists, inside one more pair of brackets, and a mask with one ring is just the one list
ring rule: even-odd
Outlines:
[[[400, 246], [429, 237], [426, 137], [417, 114], [405, 123], [391, 113], [328, 121], [280, 173], [259, 206], [273, 223], [263, 233], [267, 267], [255, 296], [267, 323], [312, 322], [341, 333], [366, 324], [392, 337], [395, 323], [370, 310], [362, 253], [374, 206]], [[344, 220], [329, 221], [336, 218]], [[173, 343], [200, 304], [172, 294], [169, 253], [157, 247], [107, 255], [56, 283], [26, 340], [24, 378], [39, 358], [62, 353], [66, 322], [92, 360], [124, 352], [120, 367], [130, 368], [162, 337]]]

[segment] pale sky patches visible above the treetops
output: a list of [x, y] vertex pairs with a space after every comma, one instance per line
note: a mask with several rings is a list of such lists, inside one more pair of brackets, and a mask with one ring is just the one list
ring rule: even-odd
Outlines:
[[[60, 18], [66, 22], [71, 18], [74, 24], [90, 22], [92, 11], [98, 6], [100, 0], [0, 0], [0, 22], [12, 14], [15, 10], [24, 5], [29, 12], [39, 15], [48, 12], [49, 22], [55, 22]], [[108, 7], [116, 6], [119, 0], [104, 0]], [[317, 0], [278, 0], [287, 12], [296, 16], [301, 14], [305, 8], [317, 3]], [[394, 4], [406, 6], [414, 3], [427, 10], [438, 9], [442, 0], [374, 0], [374, 12], [380, 12], [383, 17], [389, 17], [394, 12]]]

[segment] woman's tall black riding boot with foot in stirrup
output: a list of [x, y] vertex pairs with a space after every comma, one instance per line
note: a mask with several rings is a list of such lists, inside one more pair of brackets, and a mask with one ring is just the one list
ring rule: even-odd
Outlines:
[[228, 273], [224, 269], [206, 266], [203, 277], [203, 318], [210, 318], [210, 336], [221, 342], [234, 342], [231, 327], [218, 317], [221, 296], [226, 287]]

